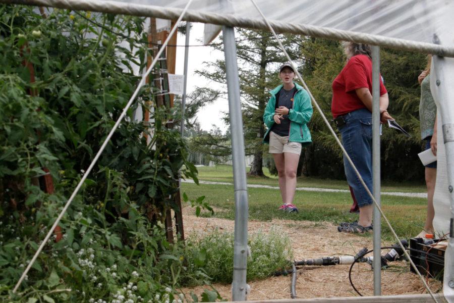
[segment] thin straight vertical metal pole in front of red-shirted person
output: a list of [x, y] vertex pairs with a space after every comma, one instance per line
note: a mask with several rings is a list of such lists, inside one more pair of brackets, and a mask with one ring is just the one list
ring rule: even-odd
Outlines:
[[[372, 174], [373, 194], [380, 203], [380, 47], [372, 46]], [[374, 295], [381, 295], [381, 217], [374, 206]]]

